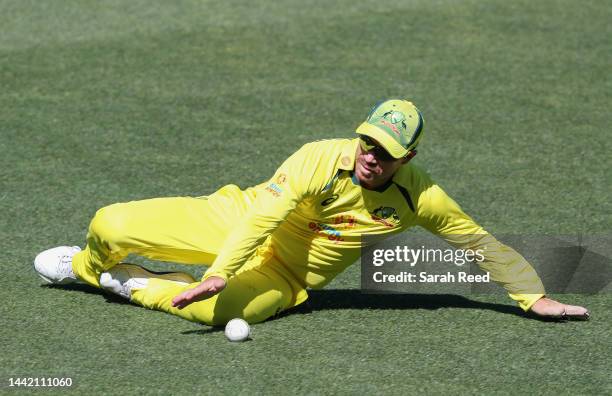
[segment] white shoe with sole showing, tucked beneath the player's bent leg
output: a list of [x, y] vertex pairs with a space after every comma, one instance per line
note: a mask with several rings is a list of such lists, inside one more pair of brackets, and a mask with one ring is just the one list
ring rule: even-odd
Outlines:
[[100, 275], [100, 286], [129, 300], [132, 290], [144, 289], [150, 278], [166, 279], [183, 285], [195, 282], [185, 272], [153, 272], [136, 264], [121, 263]]

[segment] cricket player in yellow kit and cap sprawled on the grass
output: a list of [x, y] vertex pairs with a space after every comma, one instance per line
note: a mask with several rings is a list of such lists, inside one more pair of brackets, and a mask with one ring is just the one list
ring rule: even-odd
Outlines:
[[[157, 198], [100, 209], [87, 246], [40, 253], [47, 282], [85, 282], [133, 303], [207, 325], [261, 322], [308, 298], [354, 263], [364, 235], [421, 226], [460, 249], [482, 249], [480, 267], [525, 311], [588, 318], [545, 297], [531, 265], [466, 215], [409, 163], [423, 117], [409, 101], [378, 103], [354, 139], [304, 145], [266, 182], [204, 197]], [[122, 263], [129, 254], [209, 266], [200, 281]], [[373, 297], [375, 298], [375, 297]], [[401, 298], [401, 297], [398, 297]]]

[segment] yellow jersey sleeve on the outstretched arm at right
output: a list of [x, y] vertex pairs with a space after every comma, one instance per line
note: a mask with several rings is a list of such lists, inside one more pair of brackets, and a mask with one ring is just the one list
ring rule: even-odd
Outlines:
[[458, 249], [480, 250], [478, 266], [508, 292], [525, 311], [544, 296], [544, 286], [533, 267], [514, 249], [497, 241], [444, 190], [423, 175], [417, 203], [419, 225]]

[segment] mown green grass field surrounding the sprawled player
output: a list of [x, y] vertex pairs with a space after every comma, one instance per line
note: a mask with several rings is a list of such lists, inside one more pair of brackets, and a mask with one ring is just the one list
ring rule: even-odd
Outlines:
[[233, 344], [32, 268], [99, 207], [259, 183], [397, 96], [426, 119], [416, 161], [494, 234], [610, 234], [610, 20], [589, 0], [0, 0], [0, 393], [612, 393], [609, 292], [555, 295], [592, 320], [550, 323], [504, 295], [361, 294], [354, 265]]

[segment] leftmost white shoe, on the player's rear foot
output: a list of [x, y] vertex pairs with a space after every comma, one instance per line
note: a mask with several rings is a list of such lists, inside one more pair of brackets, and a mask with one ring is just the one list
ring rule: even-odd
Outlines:
[[34, 259], [34, 269], [48, 283], [65, 285], [78, 282], [72, 272], [72, 257], [80, 251], [78, 246], [59, 246], [45, 250]]

